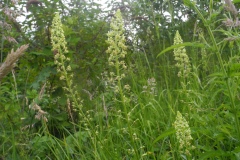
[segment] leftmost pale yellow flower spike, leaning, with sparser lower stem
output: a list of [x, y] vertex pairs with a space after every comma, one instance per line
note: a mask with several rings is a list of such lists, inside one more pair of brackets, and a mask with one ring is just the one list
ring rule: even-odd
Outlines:
[[59, 13], [55, 14], [52, 21], [51, 43], [52, 50], [55, 53], [54, 63], [57, 65], [57, 72], [60, 74], [60, 80], [66, 82], [66, 87], [63, 87], [63, 89], [68, 92], [66, 96], [72, 99], [74, 109], [81, 109], [82, 105], [80, 98], [78, 93], [74, 91], [72, 82], [73, 74], [70, 73], [72, 71], [70, 66], [70, 58], [65, 56], [65, 54], [68, 52], [66, 46], [67, 42], [65, 41]]

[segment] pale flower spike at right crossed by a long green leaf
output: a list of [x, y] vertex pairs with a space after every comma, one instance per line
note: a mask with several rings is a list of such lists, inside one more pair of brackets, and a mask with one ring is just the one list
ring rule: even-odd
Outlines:
[[[183, 43], [183, 40], [181, 38], [181, 35], [179, 32], [176, 32], [176, 35], [174, 37], [174, 45]], [[178, 47], [174, 49], [174, 57], [177, 62], [176, 67], [179, 68], [178, 76], [179, 77], [188, 77], [190, 73], [190, 62], [188, 55], [186, 53], [186, 49], [184, 46]]]

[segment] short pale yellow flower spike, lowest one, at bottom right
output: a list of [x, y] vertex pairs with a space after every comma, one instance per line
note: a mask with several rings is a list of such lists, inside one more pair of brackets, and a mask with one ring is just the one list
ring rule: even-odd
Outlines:
[[195, 148], [191, 145], [193, 138], [191, 136], [191, 130], [189, 128], [188, 122], [179, 111], [177, 112], [177, 117], [173, 126], [176, 130], [180, 152], [190, 156], [190, 150]]

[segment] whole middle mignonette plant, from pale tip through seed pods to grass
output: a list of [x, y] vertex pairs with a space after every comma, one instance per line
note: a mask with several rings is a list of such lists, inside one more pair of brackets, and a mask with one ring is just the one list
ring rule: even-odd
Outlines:
[[128, 94], [131, 92], [131, 86], [123, 81], [128, 71], [128, 67], [125, 62], [125, 58], [127, 56], [127, 46], [125, 45], [126, 39], [124, 32], [123, 18], [120, 10], [118, 9], [115, 17], [113, 17], [110, 23], [110, 31], [107, 33], [107, 43], [109, 47], [106, 53], [109, 54], [108, 65], [110, 71], [108, 72], [106, 89], [110, 92], [114, 92], [113, 101], [119, 106], [118, 108], [116, 107], [118, 111], [115, 116], [117, 117], [116, 121], [119, 125], [118, 127], [120, 127], [121, 130], [126, 130], [128, 133], [129, 142], [131, 143], [128, 150], [131, 153], [128, 152], [128, 154], [139, 156], [137, 154], [138, 148], [136, 142], [136, 137], [138, 135], [134, 133], [131, 128], [131, 123], [133, 123], [133, 120], [131, 119], [131, 112], [134, 110], [133, 108], [131, 108], [131, 111], [129, 110], [130, 98], [128, 97]]

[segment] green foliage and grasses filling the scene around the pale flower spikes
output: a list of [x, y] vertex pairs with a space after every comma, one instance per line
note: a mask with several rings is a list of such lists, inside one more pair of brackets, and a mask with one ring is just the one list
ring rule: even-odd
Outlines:
[[[25, 9], [26, 3], [17, 7], [3, 0], [0, 6], [1, 61], [12, 48], [30, 46], [0, 82], [0, 159], [240, 158], [239, 15], [226, 4], [109, 1], [103, 10], [95, 1], [41, 0], [21, 22], [3, 12], [4, 7]], [[238, 3], [233, 1], [236, 8]], [[118, 9], [124, 49], [107, 36], [116, 29], [110, 23]], [[55, 12], [63, 24], [72, 85], [59, 79], [54, 63]], [[183, 43], [173, 45], [177, 30]], [[126, 49], [119, 63], [127, 69], [109, 65], [109, 45], [119, 53]], [[173, 54], [179, 47], [186, 48], [191, 66], [184, 79]], [[173, 125], [178, 112], [189, 124], [190, 154], [180, 150], [184, 146]]]

